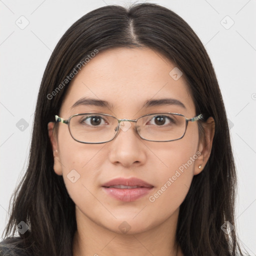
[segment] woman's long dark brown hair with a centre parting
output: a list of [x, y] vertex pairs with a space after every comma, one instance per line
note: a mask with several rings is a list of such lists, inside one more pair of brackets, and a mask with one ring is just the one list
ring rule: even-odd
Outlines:
[[[236, 174], [224, 104], [211, 61], [190, 26], [173, 11], [152, 3], [129, 8], [108, 5], [78, 19], [61, 37], [45, 68], [34, 114], [29, 164], [12, 198], [4, 238], [24, 221], [29, 229], [19, 236], [33, 255], [71, 255], [76, 230], [74, 202], [62, 176], [53, 171], [47, 123], [58, 114], [77, 64], [97, 49], [150, 47], [170, 59], [184, 74], [196, 114], [215, 120], [212, 150], [204, 170], [192, 179], [180, 205], [176, 240], [184, 255], [240, 253], [235, 228], [225, 234], [221, 225], [234, 225]], [[54, 96], [50, 98], [49, 94]], [[48, 95], [48, 96], [47, 96]], [[198, 124], [199, 126], [201, 124]], [[200, 127], [199, 127], [200, 128]], [[12, 243], [21, 247], [18, 242]], [[11, 246], [11, 243], [9, 243]]]

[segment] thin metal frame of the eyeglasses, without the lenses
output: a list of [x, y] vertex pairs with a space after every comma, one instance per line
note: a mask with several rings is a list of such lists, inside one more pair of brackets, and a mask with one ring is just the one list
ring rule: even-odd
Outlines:
[[[84, 141], [80, 141], [80, 140], [74, 138], [73, 135], [72, 135], [72, 133], [71, 133], [71, 131], [70, 131], [70, 127], [69, 127], [70, 119], [71, 119], [73, 116], [76, 116], [76, 115], [84, 115], [84, 114], [93, 114], [93, 115], [101, 114], [101, 115], [106, 115], [106, 116], [114, 117], [114, 118], [118, 121], [118, 126], [117, 126], [117, 130], [116, 130], [115, 135], [114, 135], [111, 139], [109, 139], [109, 140], [107, 140], [107, 141], [103, 141], [103, 142], [84, 142]], [[182, 135], [181, 137], [179, 137], [179, 138], [171, 139], [171, 140], [150, 140], [150, 139], [143, 138], [143, 137], [141, 137], [140, 134], [138, 133], [137, 126], [136, 126], [136, 124], [135, 124], [135, 128], [136, 128], [137, 134], [138, 134], [142, 139], [147, 140], [147, 141], [154, 141], [154, 142], [168, 142], [168, 141], [174, 141], [174, 140], [181, 139], [181, 138], [185, 135], [186, 127], [187, 127], [188, 121], [193, 122], [193, 121], [197, 121], [197, 120], [203, 119], [203, 115], [202, 115], [202, 114], [198, 114], [197, 116], [194, 116], [194, 117], [192, 117], [192, 118], [186, 118], [183, 114], [171, 113], [171, 112], [145, 114], [145, 115], [140, 116], [140, 117], [137, 118], [137, 119], [125, 119], [125, 118], [124, 118], [124, 119], [118, 119], [118, 118], [116, 118], [115, 116], [112, 116], [112, 115], [110, 115], [110, 114], [104, 114], [104, 113], [79, 113], [79, 114], [73, 114], [73, 115], [71, 115], [67, 120], [64, 120], [63, 118], [59, 117], [59, 116], [56, 115], [56, 114], [55, 114], [54, 116], [55, 116], [55, 121], [56, 121], [56, 122], [62, 122], [62, 123], [65, 123], [65, 124], [68, 125], [69, 133], [70, 133], [71, 137], [72, 137], [75, 141], [80, 142], [80, 143], [85, 143], [85, 144], [101, 144], [101, 143], [109, 142], [109, 141], [113, 140], [113, 139], [117, 136], [118, 131], [119, 131], [119, 126], [120, 126], [119, 124], [120, 124], [121, 121], [130, 121], [130, 122], [135, 122], [135, 123], [136, 123], [138, 119], [140, 119], [140, 118], [142, 118], [142, 117], [144, 117], [144, 116], [147, 116], [147, 115], [152, 115], [152, 114], [159, 114], [159, 115], [160, 115], [160, 114], [176, 114], [176, 115], [183, 116], [183, 117], [185, 118], [185, 121], [186, 121], [186, 123], [185, 123], [185, 130], [184, 130], [183, 135]]]

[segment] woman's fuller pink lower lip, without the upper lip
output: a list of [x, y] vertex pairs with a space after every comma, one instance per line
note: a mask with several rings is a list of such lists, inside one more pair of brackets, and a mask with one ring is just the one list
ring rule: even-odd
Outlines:
[[117, 200], [124, 202], [135, 201], [136, 199], [146, 195], [152, 187], [138, 187], [138, 188], [115, 188], [115, 187], [103, 187], [107, 194], [114, 197]]

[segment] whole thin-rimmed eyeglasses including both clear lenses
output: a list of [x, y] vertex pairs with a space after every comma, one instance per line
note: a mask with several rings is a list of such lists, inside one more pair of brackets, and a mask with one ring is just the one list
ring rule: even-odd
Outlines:
[[88, 144], [105, 143], [114, 139], [119, 128], [127, 130], [127, 127], [120, 127], [122, 121], [135, 122], [136, 131], [142, 139], [156, 142], [173, 141], [184, 136], [188, 121], [200, 119], [203, 119], [202, 114], [188, 119], [182, 114], [169, 112], [146, 114], [138, 119], [117, 119], [104, 113], [81, 113], [64, 120], [55, 115], [56, 122], [68, 124], [74, 140]]

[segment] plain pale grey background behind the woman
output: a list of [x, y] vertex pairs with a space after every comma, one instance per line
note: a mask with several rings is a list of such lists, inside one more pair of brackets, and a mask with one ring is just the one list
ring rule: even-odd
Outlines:
[[[66, 29], [88, 11], [131, 2], [0, 0], [0, 233], [9, 214], [10, 196], [27, 166], [36, 97], [53, 48]], [[210, 55], [229, 119], [238, 172], [239, 239], [256, 255], [256, 1], [147, 2], [159, 3], [184, 18]]]

